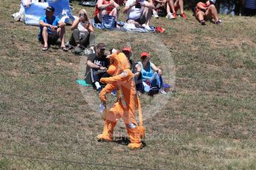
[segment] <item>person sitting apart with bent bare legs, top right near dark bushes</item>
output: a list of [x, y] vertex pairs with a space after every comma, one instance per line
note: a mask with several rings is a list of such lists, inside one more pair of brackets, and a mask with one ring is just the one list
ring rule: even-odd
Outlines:
[[206, 3], [198, 2], [196, 7], [196, 18], [202, 25], [206, 24], [205, 20], [211, 20], [214, 24], [221, 24], [217, 15], [217, 9], [214, 5], [216, 0], [209, 0]]

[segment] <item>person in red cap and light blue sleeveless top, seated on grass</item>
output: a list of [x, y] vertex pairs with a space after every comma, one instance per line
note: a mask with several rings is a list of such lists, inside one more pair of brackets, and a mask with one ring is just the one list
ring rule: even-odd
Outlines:
[[152, 62], [150, 62], [150, 55], [148, 52], [140, 53], [141, 61], [138, 62], [138, 65], [141, 69], [142, 74], [142, 84], [144, 91], [151, 95], [151, 89], [157, 89], [163, 95], [166, 92], [163, 90], [163, 79], [161, 77], [162, 70], [156, 67]]

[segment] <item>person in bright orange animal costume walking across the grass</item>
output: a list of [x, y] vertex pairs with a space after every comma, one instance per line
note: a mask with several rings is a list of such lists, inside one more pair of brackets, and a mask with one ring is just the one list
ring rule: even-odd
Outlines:
[[[117, 89], [117, 100], [114, 106], [106, 113], [103, 132], [97, 138], [99, 140], [113, 141], [114, 127], [116, 126], [116, 122], [122, 118], [125, 122], [128, 137], [131, 140], [128, 148], [141, 149], [142, 142], [140, 135], [145, 135], [145, 129], [139, 129], [135, 120], [139, 99], [137, 98], [134, 75], [131, 72], [130, 63], [122, 52], [112, 54], [110, 61], [113, 64], [109, 67], [108, 73], [111, 73], [113, 77], [100, 79], [102, 83], [107, 85], [99, 93], [99, 98], [105, 103], [107, 101], [105, 95]], [[122, 98], [120, 95], [121, 92]]]

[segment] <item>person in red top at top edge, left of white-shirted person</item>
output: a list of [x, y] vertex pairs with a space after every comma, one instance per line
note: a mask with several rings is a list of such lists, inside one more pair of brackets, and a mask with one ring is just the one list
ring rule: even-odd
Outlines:
[[119, 4], [116, 4], [114, 0], [98, 0], [94, 13], [94, 21], [95, 23], [102, 23], [104, 15], [115, 16], [117, 20], [118, 13]]

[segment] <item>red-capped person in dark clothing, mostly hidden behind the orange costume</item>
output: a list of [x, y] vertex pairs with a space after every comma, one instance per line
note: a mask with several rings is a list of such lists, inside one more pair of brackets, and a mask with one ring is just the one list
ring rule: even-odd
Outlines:
[[131, 72], [134, 73], [134, 81], [136, 84], [137, 93], [140, 95], [143, 89], [142, 75], [140, 74], [141, 72], [140, 66], [136, 62], [134, 62], [134, 60], [131, 59], [131, 55], [132, 55], [131, 47], [122, 48], [122, 52], [125, 54], [125, 56], [128, 58], [128, 61], [131, 64]]

